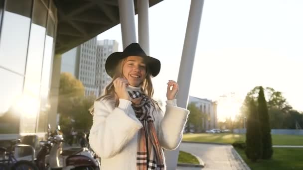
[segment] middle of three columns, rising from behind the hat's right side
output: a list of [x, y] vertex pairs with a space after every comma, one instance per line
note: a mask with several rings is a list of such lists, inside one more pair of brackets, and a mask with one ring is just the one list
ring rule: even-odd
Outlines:
[[138, 0], [139, 44], [150, 55], [149, 0]]

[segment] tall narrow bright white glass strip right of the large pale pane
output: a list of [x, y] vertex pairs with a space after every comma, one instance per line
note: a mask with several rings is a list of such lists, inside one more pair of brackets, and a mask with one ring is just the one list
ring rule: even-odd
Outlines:
[[44, 27], [31, 25], [24, 81], [24, 97], [31, 103], [31, 108], [27, 110], [27, 114], [22, 114], [21, 133], [35, 132], [36, 129], [45, 33]]

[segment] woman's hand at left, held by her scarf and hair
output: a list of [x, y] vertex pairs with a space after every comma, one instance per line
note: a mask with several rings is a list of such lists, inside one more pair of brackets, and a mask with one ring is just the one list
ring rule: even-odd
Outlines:
[[129, 85], [128, 81], [123, 78], [117, 78], [113, 82], [115, 87], [115, 92], [119, 98], [130, 100], [129, 93], [127, 92], [126, 87]]

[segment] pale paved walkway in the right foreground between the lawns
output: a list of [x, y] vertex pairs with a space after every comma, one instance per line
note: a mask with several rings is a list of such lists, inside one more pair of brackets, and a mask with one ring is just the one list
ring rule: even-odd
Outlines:
[[[250, 170], [231, 145], [181, 143], [180, 151], [201, 158], [205, 164], [203, 170]], [[177, 170], [202, 169], [178, 167]]]

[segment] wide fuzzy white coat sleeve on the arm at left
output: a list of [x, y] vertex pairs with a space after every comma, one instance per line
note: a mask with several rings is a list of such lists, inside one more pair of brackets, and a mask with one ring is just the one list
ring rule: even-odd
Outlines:
[[131, 104], [120, 99], [119, 106], [112, 109], [107, 100], [95, 101], [89, 144], [99, 157], [114, 157], [142, 128]]

